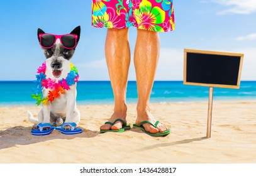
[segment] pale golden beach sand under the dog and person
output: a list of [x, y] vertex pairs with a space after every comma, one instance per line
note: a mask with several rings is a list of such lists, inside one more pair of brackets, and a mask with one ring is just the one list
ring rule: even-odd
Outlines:
[[[0, 107], [0, 163], [256, 163], [256, 102], [213, 102], [211, 138], [206, 138], [208, 102], [152, 104], [155, 118], [171, 134], [152, 137], [140, 129], [99, 133], [112, 105], [78, 106], [83, 133], [33, 136], [26, 111]], [[128, 104], [128, 123], [136, 105]]]

